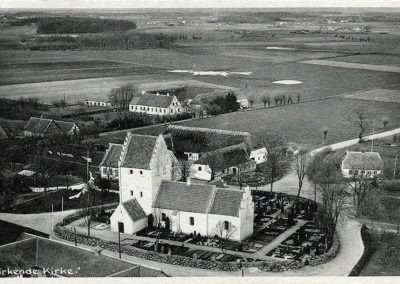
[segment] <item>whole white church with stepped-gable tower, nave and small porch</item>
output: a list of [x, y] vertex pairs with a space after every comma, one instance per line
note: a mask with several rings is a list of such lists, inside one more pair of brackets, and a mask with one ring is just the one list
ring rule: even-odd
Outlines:
[[134, 234], [152, 215], [156, 221], [168, 218], [177, 233], [214, 236], [218, 223], [233, 232], [233, 240], [253, 233], [254, 203], [248, 188], [175, 181], [177, 163], [162, 135], [127, 135], [118, 161], [120, 204], [111, 216], [112, 231]]

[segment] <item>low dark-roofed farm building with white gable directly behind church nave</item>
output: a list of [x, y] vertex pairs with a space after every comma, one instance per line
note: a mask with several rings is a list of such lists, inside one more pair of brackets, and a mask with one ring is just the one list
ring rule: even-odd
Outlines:
[[212, 174], [217, 177], [254, 171], [256, 164], [257, 162], [250, 158], [245, 143], [241, 143], [204, 154], [191, 165], [190, 176], [209, 181]]

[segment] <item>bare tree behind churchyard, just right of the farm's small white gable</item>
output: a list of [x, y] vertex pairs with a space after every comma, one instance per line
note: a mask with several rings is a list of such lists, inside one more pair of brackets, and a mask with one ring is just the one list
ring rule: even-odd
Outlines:
[[266, 174], [269, 175], [271, 190], [273, 192], [273, 186], [275, 178], [283, 173], [289, 165], [289, 158], [287, 155], [287, 149], [283, 139], [279, 136], [266, 133], [261, 139], [260, 144], [267, 149], [267, 162], [266, 162]]

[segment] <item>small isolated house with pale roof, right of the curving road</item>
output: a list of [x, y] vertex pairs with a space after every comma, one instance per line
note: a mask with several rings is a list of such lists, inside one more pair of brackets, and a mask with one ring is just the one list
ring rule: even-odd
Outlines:
[[347, 151], [341, 168], [345, 178], [379, 177], [383, 172], [383, 160], [377, 152]]

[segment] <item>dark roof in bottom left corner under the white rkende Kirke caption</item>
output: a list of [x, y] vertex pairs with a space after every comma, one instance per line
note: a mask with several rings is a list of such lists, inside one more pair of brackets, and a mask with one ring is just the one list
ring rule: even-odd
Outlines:
[[0, 277], [166, 277], [161, 270], [24, 233], [0, 246]]

